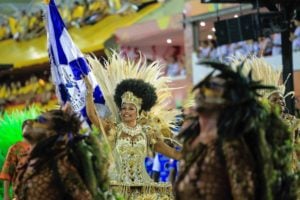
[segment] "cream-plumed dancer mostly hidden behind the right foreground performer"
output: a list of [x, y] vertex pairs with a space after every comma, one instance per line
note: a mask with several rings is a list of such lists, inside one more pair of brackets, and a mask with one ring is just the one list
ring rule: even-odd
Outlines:
[[233, 57], [232, 63], [234, 66], [244, 61], [243, 72], [245, 74], [251, 71], [252, 77], [256, 81], [260, 81], [264, 85], [272, 85], [273, 90], [260, 91], [261, 99], [268, 100], [273, 109], [279, 112], [280, 117], [287, 123], [292, 131], [292, 144], [293, 144], [293, 165], [291, 166], [294, 171], [300, 172], [300, 120], [295, 116], [288, 113], [285, 104], [285, 98], [293, 95], [294, 92], [287, 94], [285, 91], [285, 81], [282, 80], [282, 70], [275, 69], [272, 65], [267, 63], [264, 58], [257, 57]]

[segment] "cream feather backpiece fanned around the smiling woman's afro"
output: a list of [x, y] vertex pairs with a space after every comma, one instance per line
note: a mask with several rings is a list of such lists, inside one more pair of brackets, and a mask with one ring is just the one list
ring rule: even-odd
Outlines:
[[[153, 126], [158, 125], [163, 128], [163, 133], [170, 134], [169, 127], [174, 126], [175, 116], [178, 111], [169, 108], [171, 98], [171, 88], [168, 83], [170, 78], [163, 76], [163, 65], [159, 61], [148, 63], [145, 57], [140, 57], [138, 61], [123, 58], [119, 53], [113, 51], [112, 55], [101, 64], [95, 57], [87, 56], [90, 63], [92, 73], [95, 75], [96, 81], [99, 84], [106, 105], [112, 113], [112, 119], [120, 121], [118, 115], [118, 105], [115, 103], [115, 92], [121, 82], [128, 80], [128, 84], [133, 84], [134, 79], [154, 87], [157, 95], [156, 103], [151, 110], [143, 111], [140, 115], [140, 123]], [[130, 94], [127, 94], [128, 98]], [[135, 99], [138, 102], [138, 99]], [[143, 110], [143, 109], [142, 109]], [[165, 129], [168, 127], [167, 129]]]

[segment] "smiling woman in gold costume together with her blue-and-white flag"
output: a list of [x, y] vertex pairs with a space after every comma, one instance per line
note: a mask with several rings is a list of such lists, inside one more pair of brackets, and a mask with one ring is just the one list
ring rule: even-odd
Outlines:
[[169, 127], [178, 112], [167, 108], [169, 79], [161, 76], [160, 63], [129, 61], [113, 52], [107, 65], [102, 66], [98, 60], [84, 56], [72, 42], [54, 0], [48, 1], [46, 21], [57, 96], [62, 105], [70, 102], [74, 112], [83, 120], [88, 116], [108, 136], [114, 160], [109, 171], [111, 189], [126, 199], [172, 199], [171, 184], [153, 182], [144, 165], [151, 150], [174, 159], [181, 155], [164, 143], [164, 137], [172, 136]]

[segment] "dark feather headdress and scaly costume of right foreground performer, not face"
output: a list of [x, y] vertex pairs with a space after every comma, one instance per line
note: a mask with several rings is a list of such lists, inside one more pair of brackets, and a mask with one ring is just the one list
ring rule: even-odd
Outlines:
[[[180, 137], [185, 146], [185, 161], [176, 184], [177, 193], [180, 194], [181, 182], [190, 180], [198, 193], [194, 199], [207, 199], [214, 195], [215, 199], [297, 199], [297, 176], [290, 170], [291, 133], [278, 113], [257, 98], [259, 89], [272, 87], [253, 81], [251, 72], [247, 77], [243, 76], [242, 65], [234, 71], [220, 63], [203, 64], [219, 71], [217, 77], [225, 80], [224, 102], [218, 105], [218, 139], [215, 146], [200, 143], [193, 152], [187, 152], [186, 147], [198, 136], [201, 127], [195, 121], [182, 131]], [[211, 77], [213, 73], [195, 89], [208, 84]], [[207, 171], [207, 167], [215, 171]], [[210, 179], [214, 181], [208, 186]]]

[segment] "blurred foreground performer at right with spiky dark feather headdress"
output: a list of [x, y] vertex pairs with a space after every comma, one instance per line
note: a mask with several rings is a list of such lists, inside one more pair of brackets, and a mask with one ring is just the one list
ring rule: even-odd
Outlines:
[[287, 164], [280, 159], [286, 157], [273, 162], [279, 150], [268, 142], [271, 134], [290, 141], [287, 126], [258, 100], [258, 90], [270, 87], [244, 76], [242, 64], [236, 70], [203, 64], [214, 71], [194, 87], [198, 118], [180, 133], [184, 146], [176, 199], [297, 199], [287, 192], [297, 187], [283, 178]]

